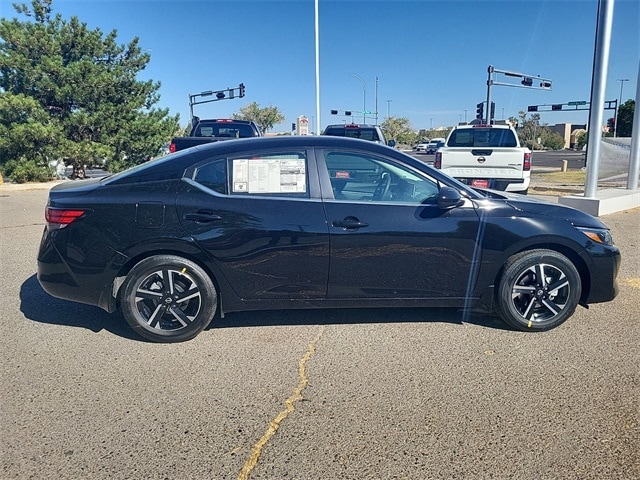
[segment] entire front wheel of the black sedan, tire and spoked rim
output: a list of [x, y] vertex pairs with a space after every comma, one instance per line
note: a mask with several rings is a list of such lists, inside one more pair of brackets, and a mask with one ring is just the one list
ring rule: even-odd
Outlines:
[[505, 264], [497, 311], [518, 330], [550, 330], [573, 315], [581, 293], [580, 274], [567, 257], [553, 250], [530, 250]]

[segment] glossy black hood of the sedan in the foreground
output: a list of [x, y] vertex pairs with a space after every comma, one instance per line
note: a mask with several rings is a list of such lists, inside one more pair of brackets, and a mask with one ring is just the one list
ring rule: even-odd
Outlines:
[[503, 203], [520, 212], [554, 219], [562, 218], [576, 227], [607, 228], [600, 219], [566, 205], [559, 205], [527, 195], [496, 190], [483, 190], [483, 193], [487, 194], [491, 201]]

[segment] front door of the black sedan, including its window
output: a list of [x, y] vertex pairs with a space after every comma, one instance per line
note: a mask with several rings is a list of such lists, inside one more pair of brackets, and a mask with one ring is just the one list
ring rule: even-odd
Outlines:
[[470, 202], [441, 210], [436, 180], [383, 155], [323, 149], [317, 157], [331, 242], [329, 298], [469, 296], [480, 261]]

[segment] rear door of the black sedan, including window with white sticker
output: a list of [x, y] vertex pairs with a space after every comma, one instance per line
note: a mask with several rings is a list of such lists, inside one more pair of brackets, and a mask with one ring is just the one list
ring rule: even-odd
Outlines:
[[182, 225], [239, 298], [325, 297], [329, 234], [312, 166], [304, 149], [275, 150], [210, 158], [187, 172]]

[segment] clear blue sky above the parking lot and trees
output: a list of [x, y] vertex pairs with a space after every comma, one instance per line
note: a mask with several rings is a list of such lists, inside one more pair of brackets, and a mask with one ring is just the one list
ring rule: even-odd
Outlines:
[[[487, 97], [489, 65], [552, 81], [551, 90], [494, 85], [498, 119], [529, 105], [589, 101], [598, 3], [319, 0], [320, 128], [362, 122], [344, 111], [376, 108], [379, 123], [406, 117], [414, 130], [471, 121]], [[314, 0], [53, 0], [52, 7], [105, 34], [117, 30], [120, 44], [138, 37], [151, 55], [140, 79], [161, 82], [156, 106], [180, 114], [182, 125], [190, 94], [243, 83], [244, 98], [196, 105], [194, 113], [226, 118], [256, 102], [285, 116], [274, 131], [290, 131], [300, 115], [317, 126]], [[17, 16], [10, 1], [0, 0], [0, 15]], [[623, 103], [635, 98], [639, 65], [640, 1], [615, 0], [607, 100], [619, 99], [621, 87]], [[551, 125], [588, 121], [587, 111], [540, 115]], [[612, 116], [605, 110], [605, 121]]]

